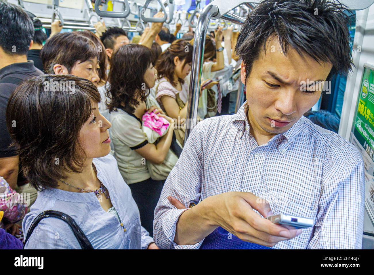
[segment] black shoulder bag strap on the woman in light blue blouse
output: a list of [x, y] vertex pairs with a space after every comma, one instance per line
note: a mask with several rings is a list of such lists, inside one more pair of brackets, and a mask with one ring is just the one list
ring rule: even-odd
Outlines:
[[65, 213], [54, 210], [44, 211], [33, 220], [33, 223], [31, 223], [30, 229], [27, 232], [25, 245], [28, 239], [30, 238], [31, 234], [33, 233], [35, 227], [38, 225], [39, 221], [48, 217], [53, 217], [65, 221], [73, 231], [74, 236], [77, 238], [77, 241], [80, 244], [80, 247], [82, 249], [93, 249], [91, 242], [88, 240], [85, 233], [83, 233], [82, 229], [80, 229], [78, 224], [73, 220], [73, 218]]

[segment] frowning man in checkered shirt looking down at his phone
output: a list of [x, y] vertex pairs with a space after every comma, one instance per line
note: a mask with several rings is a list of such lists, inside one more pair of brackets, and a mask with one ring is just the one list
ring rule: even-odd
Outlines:
[[[277, 249], [361, 249], [361, 155], [303, 116], [322, 93], [305, 82], [351, 70], [343, 10], [332, 1], [265, 0], [249, 13], [236, 45], [247, 101], [237, 114], [191, 131], [155, 209], [159, 248], [199, 248], [222, 227]], [[314, 226], [264, 219], [277, 214], [313, 219]]]

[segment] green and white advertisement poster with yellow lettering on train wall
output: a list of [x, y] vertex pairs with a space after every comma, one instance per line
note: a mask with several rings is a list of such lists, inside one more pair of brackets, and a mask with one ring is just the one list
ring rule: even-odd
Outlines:
[[350, 142], [365, 165], [365, 207], [374, 223], [374, 65], [365, 64]]

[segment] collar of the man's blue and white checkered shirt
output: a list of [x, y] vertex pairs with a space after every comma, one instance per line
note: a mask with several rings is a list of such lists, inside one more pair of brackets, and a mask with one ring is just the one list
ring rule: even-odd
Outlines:
[[[248, 120], [247, 120], [247, 115], [246, 115], [248, 112], [248, 108], [249, 107], [248, 107], [247, 101], [245, 101], [245, 103], [243, 103], [243, 105], [240, 107], [237, 113], [234, 114], [234, 117], [233, 117], [234, 125], [238, 129], [242, 130], [243, 133], [244, 133], [245, 126], [247, 126], [248, 129], [250, 127]], [[244, 123], [242, 121], [244, 121]], [[301, 129], [303, 128], [304, 121], [305, 121], [304, 116], [301, 116], [301, 118], [294, 125], [292, 125], [292, 127], [289, 128], [286, 132], [279, 134], [279, 135], [275, 135], [272, 138], [272, 140], [274, 141], [274, 140], [278, 140], [278, 138], [280, 137], [285, 137], [284, 141], [278, 146], [278, 150], [279, 152], [281, 152], [282, 155], [285, 154], [286, 149], [288, 148], [291, 141], [300, 133]]]

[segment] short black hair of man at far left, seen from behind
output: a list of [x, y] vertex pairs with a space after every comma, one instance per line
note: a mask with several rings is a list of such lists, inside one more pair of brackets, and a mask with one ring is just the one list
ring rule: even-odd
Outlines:
[[18, 6], [0, 1], [0, 47], [7, 55], [26, 55], [34, 36], [30, 17]]

